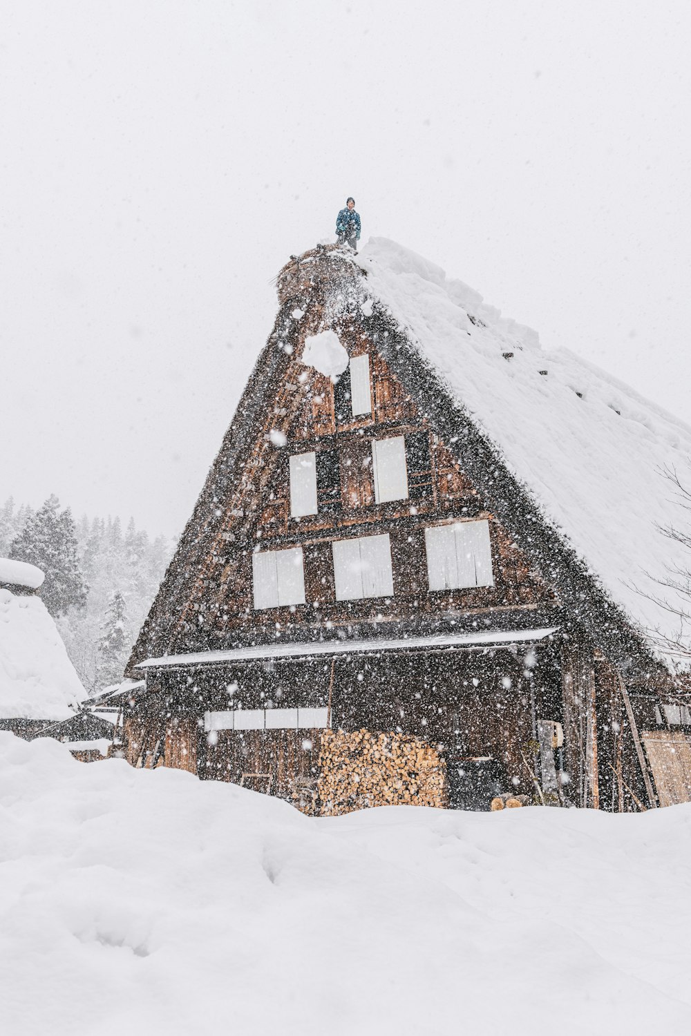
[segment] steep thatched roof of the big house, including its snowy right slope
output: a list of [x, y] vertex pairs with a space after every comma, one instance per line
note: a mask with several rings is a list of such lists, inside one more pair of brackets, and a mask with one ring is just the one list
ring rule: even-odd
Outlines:
[[177, 616], [224, 521], [253, 429], [301, 348], [291, 313], [315, 306], [322, 325], [354, 320], [375, 341], [499, 521], [557, 587], [567, 625], [618, 664], [636, 659], [644, 668], [645, 632], [666, 620], [650, 600], [669, 558], [656, 523], [678, 517], [658, 469], [686, 464], [691, 431], [572, 354], [542, 350], [535, 333], [502, 321], [477, 293], [393, 242], [371, 242], [357, 258], [341, 249], [306, 253], [284, 267], [278, 290], [273, 330], [128, 672], [146, 658], [199, 650], [175, 638]]

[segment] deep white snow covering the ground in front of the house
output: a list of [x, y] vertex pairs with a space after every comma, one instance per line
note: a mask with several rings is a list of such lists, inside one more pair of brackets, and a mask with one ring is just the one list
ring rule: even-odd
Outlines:
[[681, 1034], [691, 806], [310, 819], [0, 735], [0, 1032]]

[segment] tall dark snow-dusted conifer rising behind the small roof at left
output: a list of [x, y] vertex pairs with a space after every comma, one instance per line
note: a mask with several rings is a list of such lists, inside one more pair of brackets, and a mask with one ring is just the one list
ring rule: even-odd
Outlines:
[[40, 596], [52, 615], [86, 605], [88, 586], [79, 563], [75, 522], [69, 508], [60, 513], [57, 496], [49, 496], [28, 518], [9, 556], [36, 565], [46, 574]]

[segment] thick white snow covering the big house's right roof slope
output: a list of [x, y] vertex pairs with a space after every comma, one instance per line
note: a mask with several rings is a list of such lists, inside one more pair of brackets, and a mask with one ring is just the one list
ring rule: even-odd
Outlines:
[[660, 526], [688, 526], [662, 471], [691, 486], [691, 428], [573, 352], [542, 348], [534, 330], [394, 241], [372, 238], [356, 261], [368, 293], [611, 598], [644, 630], [675, 636], [674, 616], [645, 595], [673, 602], [657, 580], [689, 566]]

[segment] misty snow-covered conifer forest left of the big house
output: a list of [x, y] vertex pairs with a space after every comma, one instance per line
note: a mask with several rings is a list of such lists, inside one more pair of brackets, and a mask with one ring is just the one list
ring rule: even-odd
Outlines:
[[41, 599], [88, 696], [122, 679], [171, 549], [134, 519], [124, 528], [117, 516], [75, 520], [54, 495], [36, 510], [11, 496], [0, 508], [0, 557], [47, 574]]

